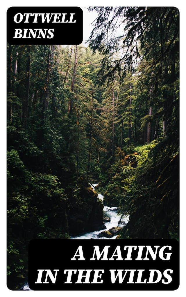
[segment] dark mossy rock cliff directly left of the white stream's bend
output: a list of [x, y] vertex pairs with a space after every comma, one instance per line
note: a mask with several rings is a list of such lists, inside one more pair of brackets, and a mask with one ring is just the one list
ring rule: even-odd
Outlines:
[[79, 178], [77, 196], [71, 197], [68, 212], [70, 235], [78, 235], [85, 231], [96, 231], [104, 228], [103, 203], [90, 184]]

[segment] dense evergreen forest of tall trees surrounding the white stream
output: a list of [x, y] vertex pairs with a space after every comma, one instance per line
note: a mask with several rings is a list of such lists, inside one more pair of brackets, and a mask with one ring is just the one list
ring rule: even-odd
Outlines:
[[[85, 45], [7, 44], [7, 284], [33, 238], [100, 230], [179, 240], [179, 11], [89, 7]], [[103, 201], [103, 202], [104, 202]]]

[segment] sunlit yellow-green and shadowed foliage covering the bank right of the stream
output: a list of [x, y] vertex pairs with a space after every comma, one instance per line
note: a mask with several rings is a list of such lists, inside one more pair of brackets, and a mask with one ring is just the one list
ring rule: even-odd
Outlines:
[[105, 205], [130, 218], [120, 238], [179, 239], [179, 157], [177, 143], [170, 145], [166, 139], [130, 147], [101, 176]]

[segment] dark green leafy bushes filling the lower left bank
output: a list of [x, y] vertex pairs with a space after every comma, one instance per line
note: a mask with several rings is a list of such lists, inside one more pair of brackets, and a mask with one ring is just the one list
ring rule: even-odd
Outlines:
[[7, 274], [25, 274], [29, 240], [69, 238], [66, 195], [56, 176], [27, 170], [13, 149], [7, 151], [7, 184]]

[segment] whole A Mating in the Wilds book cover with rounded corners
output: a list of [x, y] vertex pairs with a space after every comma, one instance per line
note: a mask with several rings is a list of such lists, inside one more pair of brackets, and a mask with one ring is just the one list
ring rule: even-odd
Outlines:
[[78, 5], [7, 9], [7, 287], [173, 292], [179, 9]]

